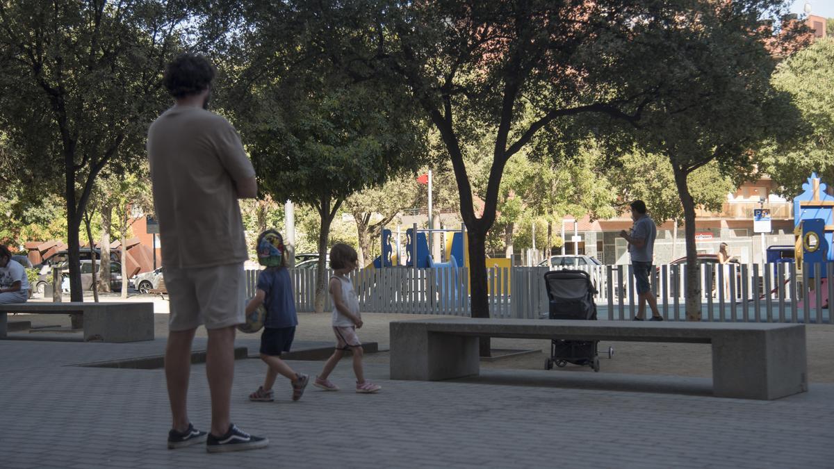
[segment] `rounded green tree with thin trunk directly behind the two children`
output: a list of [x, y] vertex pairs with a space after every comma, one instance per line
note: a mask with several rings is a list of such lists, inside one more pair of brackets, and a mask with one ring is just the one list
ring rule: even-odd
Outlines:
[[308, 54], [319, 44], [303, 27], [262, 23], [262, 13], [245, 12], [254, 36], [245, 35], [230, 53], [239, 63], [229, 70], [234, 88], [228, 107], [264, 194], [308, 204], [319, 214], [320, 312], [330, 225], [339, 208], [350, 195], [419, 167], [423, 132], [414, 109], [400, 98], [404, 89], [379, 79], [355, 81], [331, 57]]

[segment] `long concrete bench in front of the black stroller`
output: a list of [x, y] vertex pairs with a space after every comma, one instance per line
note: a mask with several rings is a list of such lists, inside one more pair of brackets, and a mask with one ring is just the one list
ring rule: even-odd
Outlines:
[[[476, 376], [479, 337], [712, 345], [715, 396], [772, 400], [807, 391], [805, 325], [434, 319], [390, 324], [391, 379]], [[656, 357], [663, 360], [662, 357]]]

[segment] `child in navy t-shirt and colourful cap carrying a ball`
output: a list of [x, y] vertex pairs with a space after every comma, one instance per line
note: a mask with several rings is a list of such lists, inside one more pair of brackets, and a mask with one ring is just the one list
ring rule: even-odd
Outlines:
[[299, 324], [295, 315], [293, 284], [286, 268], [284, 239], [278, 231], [267, 229], [258, 237], [257, 250], [259, 263], [265, 265], [266, 270], [258, 276], [258, 290], [246, 305], [246, 315], [249, 316], [261, 304], [266, 308], [260, 357], [269, 368], [264, 385], [249, 395], [249, 401], [274, 401], [272, 386], [279, 374], [292, 381], [293, 401], [298, 401], [304, 394], [309, 376], [296, 373], [280, 358], [293, 344], [295, 326]]

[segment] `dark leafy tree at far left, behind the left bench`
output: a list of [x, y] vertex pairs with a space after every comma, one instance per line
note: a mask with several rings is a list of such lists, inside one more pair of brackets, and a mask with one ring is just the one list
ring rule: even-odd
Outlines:
[[73, 301], [83, 300], [78, 232], [93, 184], [142, 153], [187, 15], [162, 0], [0, 1], [0, 129], [21, 149], [19, 180], [65, 200]]

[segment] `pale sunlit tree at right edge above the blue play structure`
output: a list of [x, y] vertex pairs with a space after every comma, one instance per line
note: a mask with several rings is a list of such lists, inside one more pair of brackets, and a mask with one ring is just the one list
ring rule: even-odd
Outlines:
[[782, 194], [793, 197], [811, 172], [834, 181], [834, 38], [818, 39], [791, 55], [776, 68], [772, 82], [791, 94], [809, 127], [790, 144], [773, 143], [763, 152], [764, 170]]

